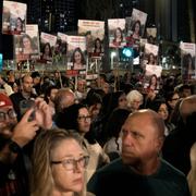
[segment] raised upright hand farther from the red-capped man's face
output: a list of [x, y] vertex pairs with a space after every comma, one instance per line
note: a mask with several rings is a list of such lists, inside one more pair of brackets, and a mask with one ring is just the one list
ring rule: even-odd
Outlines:
[[37, 121], [38, 126], [49, 130], [52, 127], [52, 113], [50, 107], [47, 102], [41, 99], [37, 98], [35, 100], [35, 119]]

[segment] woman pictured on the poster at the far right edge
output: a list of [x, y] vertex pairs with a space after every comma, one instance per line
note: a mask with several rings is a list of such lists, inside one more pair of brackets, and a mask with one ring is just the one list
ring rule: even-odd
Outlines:
[[186, 53], [182, 59], [183, 78], [188, 81], [195, 76], [195, 64], [191, 53]]

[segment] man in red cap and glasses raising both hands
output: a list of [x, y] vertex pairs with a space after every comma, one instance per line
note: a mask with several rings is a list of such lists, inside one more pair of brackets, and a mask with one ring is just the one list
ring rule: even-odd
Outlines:
[[[11, 99], [0, 94], [0, 195], [28, 196], [27, 160], [24, 147], [37, 134], [39, 127], [52, 126], [49, 107], [37, 99], [37, 117], [30, 120], [29, 109], [17, 123]], [[37, 120], [38, 119], [38, 120]]]

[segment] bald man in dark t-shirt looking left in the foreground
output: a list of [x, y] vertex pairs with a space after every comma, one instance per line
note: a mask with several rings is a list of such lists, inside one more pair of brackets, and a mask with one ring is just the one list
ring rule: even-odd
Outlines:
[[88, 183], [96, 196], [188, 196], [186, 177], [160, 158], [164, 123], [152, 110], [133, 112], [122, 126], [122, 157]]

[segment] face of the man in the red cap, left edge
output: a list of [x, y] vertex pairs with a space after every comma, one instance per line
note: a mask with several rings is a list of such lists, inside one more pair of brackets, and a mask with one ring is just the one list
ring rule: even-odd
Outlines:
[[8, 139], [12, 136], [12, 130], [16, 125], [16, 114], [12, 106], [0, 108], [0, 136]]

